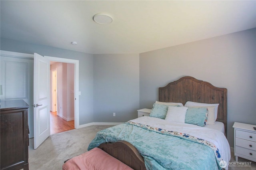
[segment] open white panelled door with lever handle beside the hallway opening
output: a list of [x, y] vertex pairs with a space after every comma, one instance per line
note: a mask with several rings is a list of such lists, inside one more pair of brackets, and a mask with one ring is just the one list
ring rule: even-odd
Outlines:
[[50, 61], [34, 53], [34, 149], [50, 136]]

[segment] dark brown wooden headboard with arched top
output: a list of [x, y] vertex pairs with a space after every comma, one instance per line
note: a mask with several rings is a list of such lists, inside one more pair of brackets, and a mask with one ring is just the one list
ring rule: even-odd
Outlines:
[[213, 86], [194, 77], [182, 77], [165, 87], [159, 87], [159, 101], [178, 102], [185, 105], [187, 101], [199, 103], [219, 103], [217, 120], [224, 123], [227, 136], [227, 89]]

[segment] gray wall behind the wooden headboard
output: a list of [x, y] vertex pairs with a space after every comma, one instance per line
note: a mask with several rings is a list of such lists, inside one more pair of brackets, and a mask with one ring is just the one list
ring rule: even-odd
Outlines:
[[228, 89], [228, 141], [234, 122], [256, 124], [256, 29], [140, 54], [140, 108], [152, 108], [158, 87], [183, 76]]

